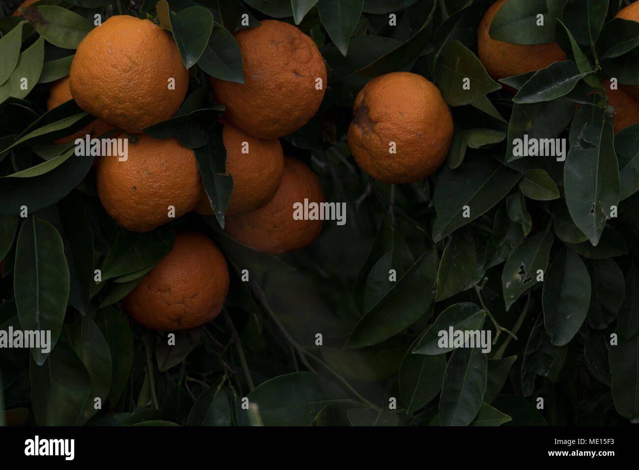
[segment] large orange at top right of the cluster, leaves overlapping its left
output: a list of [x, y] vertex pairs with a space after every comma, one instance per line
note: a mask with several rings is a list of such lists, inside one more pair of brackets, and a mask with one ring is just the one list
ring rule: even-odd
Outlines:
[[277, 20], [240, 29], [235, 40], [242, 51], [244, 83], [211, 78], [226, 117], [260, 139], [300, 129], [318, 111], [327, 84], [326, 66], [313, 40]]

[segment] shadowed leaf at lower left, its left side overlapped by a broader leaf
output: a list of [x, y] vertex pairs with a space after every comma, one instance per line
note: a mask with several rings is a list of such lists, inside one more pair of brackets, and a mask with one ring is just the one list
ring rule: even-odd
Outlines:
[[91, 393], [82, 410], [79, 423], [86, 423], [99, 410], [95, 408], [96, 398], [104, 403], [111, 389], [111, 352], [98, 326], [88, 317], [76, 318], [69, 329], [69, 337], [75, 354], [89, 372]]

